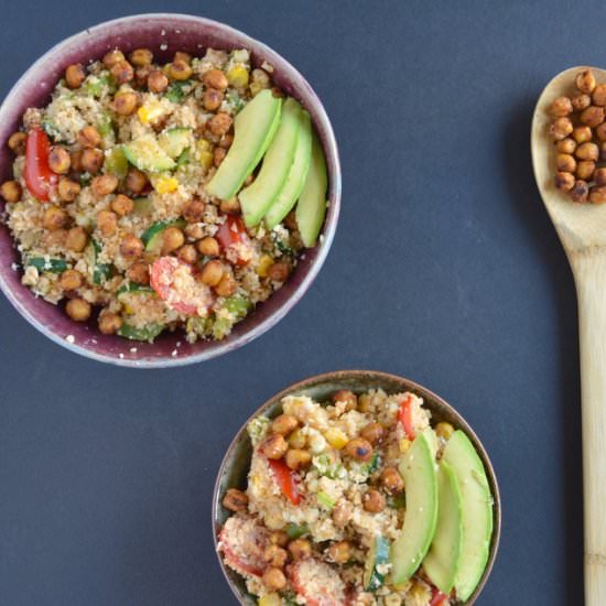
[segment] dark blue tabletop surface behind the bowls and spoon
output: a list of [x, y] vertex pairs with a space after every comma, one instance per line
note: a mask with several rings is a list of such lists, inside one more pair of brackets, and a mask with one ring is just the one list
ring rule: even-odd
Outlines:
[[375, 368], [446, 398], [502, 493], [486, 605], [582, 603], [574, 284], [530, 167], [544, 84], [604, 65], [603, 2], [2, 2], [0, 94], [96, 22], [172, 10], [261, 39], [333, 120], [343, 213], [279, 326], [199, 366], [76, 357], [0, 297], [0, 604], [232, 604], [210, 535], [224, 450], [315, 372]]

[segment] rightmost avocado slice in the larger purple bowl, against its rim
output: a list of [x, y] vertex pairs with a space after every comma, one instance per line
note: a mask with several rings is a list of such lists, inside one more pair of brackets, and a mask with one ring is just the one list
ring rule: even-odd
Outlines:
[[296, 225], [301, 232], [301, 239], [307, 248], [315, 246], [324, 216], [326, 215], [326, 161], [322, 145], [314, 134], [312, 142], [312, 162], [307, 171], [305, 185], [296, 204]]

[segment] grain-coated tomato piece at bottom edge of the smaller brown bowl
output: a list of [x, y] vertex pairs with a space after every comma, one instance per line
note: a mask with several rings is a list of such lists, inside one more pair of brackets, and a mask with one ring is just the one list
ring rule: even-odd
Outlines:
[[293, 589], [305, 598], [307, 606], [347, 606], [349, 603], [340, 575], [324, 562], [307, 558], [289, 566], [288, 573]]

